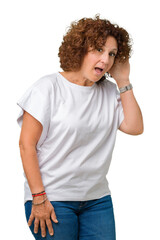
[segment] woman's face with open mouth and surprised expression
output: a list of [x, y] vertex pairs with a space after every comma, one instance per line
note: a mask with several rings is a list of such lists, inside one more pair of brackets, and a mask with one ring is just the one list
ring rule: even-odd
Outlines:
[[107, 37], [106, 43], [102, 48], [89, 48], [80, 70], [83, 77], [93, 82], [99, 81], [113, 66], [117, 51], [117, 41], [112, 36]]

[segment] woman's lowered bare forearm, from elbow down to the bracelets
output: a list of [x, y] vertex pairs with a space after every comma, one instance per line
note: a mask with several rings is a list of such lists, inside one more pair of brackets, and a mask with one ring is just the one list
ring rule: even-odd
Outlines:
[[44, 190], [36, 148], [32, 145], [19, 146], [23, 169], [28, 180], [32, 193], [38, 193]]

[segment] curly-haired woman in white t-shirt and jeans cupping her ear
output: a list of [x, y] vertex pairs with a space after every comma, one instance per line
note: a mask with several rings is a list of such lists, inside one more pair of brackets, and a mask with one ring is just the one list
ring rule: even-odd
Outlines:
[[115, 240], [106, 174], [116, 132], [143, 132], [130, 54], [129, 34], [118, 25], [99, 16], [73, 22], [59, 48], [63, 71], [36, 81], [17, 102], [35, 239]]

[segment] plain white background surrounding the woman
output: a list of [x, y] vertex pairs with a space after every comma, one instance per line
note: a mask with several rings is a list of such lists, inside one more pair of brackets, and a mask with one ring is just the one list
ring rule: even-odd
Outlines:
[[117, 132], [108, 174], [117, 240], [159, 240], [160, 100], [158, 0], [5, 0], [0, 3], [0, 218], [3, 239], [32, 240], [23, 206], [23, 169], [16, 101], [40, 77], [59, 71], [58, 48], [67, 27], [82, 17], [126, 28], [134, 45], [130, 81], [144, 133]]

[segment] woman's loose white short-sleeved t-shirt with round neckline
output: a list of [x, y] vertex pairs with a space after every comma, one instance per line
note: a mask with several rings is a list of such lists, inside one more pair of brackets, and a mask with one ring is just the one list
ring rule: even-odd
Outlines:
[[[20, 127], [24, 110], [43, 126], [37, 157], [50, 201], [87, 201], [111, 194], [106, 174], [124, 119], [115, 83], [80, 86], [57, 72], [34, 82], [17, 105]], [[24, 189], [24, 202], [32, 200], [26, 177]]]

